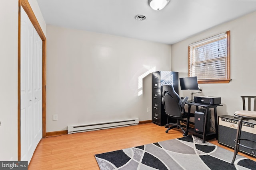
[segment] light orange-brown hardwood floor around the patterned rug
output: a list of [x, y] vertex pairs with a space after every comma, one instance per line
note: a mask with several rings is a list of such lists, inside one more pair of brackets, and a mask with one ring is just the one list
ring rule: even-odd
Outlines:
[[[38, 144], [28, 169], [99, 170], [94, 154], [183, 137], [179, 130], [172, 129], [169, 133], [165, 133], [165, 130], [164, 126], [146, 123], [47, 137]], [[210, 142], [228, 149], [219, 145], [215, 139]], [[256, 161], [256, 158], [241, 155]]]

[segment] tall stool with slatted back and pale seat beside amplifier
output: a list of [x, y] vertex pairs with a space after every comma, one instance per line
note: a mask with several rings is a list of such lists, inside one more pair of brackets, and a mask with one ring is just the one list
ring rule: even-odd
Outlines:
[[[247, 148], [247, 149], [251, 149], [251, 150], [256, 150], [256, 147], [250, 147], [250, 146], [256, 146], [256, 140], [254, 140], [254, 139], [256, 139], [255, 137], [254, 137], [254, 139], [241, 138], [241, 130], [242, 130], [243, 120], [252, 119], [252, 120], [256, 121], [256, 96], [241, 96], [241, 98], [243, 100], [243, 110], [236, 111], [234, 113], [234, 115], [236, 115], [237, 117], [240, 117], [240, 120], [238, 121], [236, 139], [234, 140], [235, 150], [234, 150], [234, 156], [233, 156], [233, 160], [232, 160], [231, 164], [234, 164], [237, 152], [239, 150], [239, 146]], [[251, 99], [252, 98], [254, 98], [253, 111], [251, 111]], [[247, 110], [246, 110], [246, 101], [248, 101]], [[248, 143], [250, 143], [250, 144], [254, 143], [255, 145], [250, 145]], [[246, 145], [250, 145], [250, 146], [246, 146]]]

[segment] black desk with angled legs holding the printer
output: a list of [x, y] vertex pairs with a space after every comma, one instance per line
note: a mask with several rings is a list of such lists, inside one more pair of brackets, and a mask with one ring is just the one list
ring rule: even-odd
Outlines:
[[[209, 139], [214, 139], [216, 138], [218, 140], [218, 119], [217, 119], [217, 107], [218, 106], [223, 106], [222, 104], [218, 104], [218, 105], [208, 105], [208, 104], [200, 104], [200, 103], [195, 103], [195, 102], [192, 102], [192, 103], [188, 103], [186, 102], [186, 104], [188, 105], [188, 119], [187, 119], [187, 125], [186, 125], [186, 135], [188, 135], [188, 132], [192, 133], [193, 135], [196, 135], [198, 137], [201, 137], [203, 139], [203, 143], [205, 143], [206, 140], [209, 140]], [[196, 110], [198, 110], [198, 107], [203, 107], [204, 109], [206, 109], [206, 112], [205, 112], [205, 120], [207, 121], [208, 118], [207, 118], [207, 113], [209, 111], [210, 108], [214, 108], [214, 121], [215, 121], [215, 132], [214, 131], [209, 131], [209, 132], [205, 132], [205, 129], [206, 129], [206, 125], [207, 125], [207, 122], [204, 121], [204, 132], [203, 134], [200, 134], [200, 133], [196, 133], [194, 131], [194, 128], [190, 128], [189, 127], [189, 119], [190, 119], [190, 115], [192, 113], [190, 113], [190, 110], [191, 110], [191, 106], [196, 106]]]

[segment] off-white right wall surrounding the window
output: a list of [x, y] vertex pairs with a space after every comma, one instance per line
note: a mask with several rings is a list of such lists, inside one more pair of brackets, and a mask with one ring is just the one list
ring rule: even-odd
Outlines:
[[[188, 76], [188, 45], [196, 41], [230, 30], [231, 81], [228, 84], [199, 84], [204, 96], [222, 98], [224, 106], [218, 107], [218, 115], [233, 115], [242, 109], [242, 95], [256, 96], [256, 12], [208, 29], [198, 35], [172, 45], [172, 70], [180, 77]], [[189, 91], [180, 90], [180, 96]]]

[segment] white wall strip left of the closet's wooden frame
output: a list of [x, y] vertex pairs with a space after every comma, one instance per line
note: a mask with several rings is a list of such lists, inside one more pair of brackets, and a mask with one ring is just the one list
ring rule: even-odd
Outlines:
[[0, 160], [18, 160], [18, 0], [5, 1], [0, 12]]

